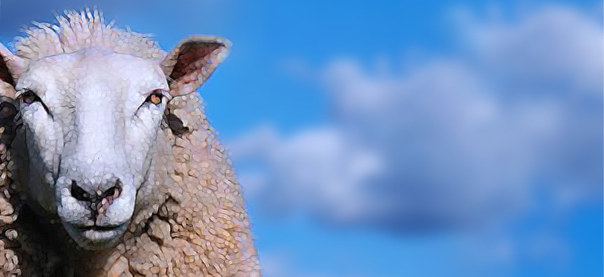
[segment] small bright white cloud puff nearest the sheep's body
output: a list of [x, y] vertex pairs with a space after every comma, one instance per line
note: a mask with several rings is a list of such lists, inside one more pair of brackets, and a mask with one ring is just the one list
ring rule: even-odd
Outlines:
[[235, 160], [243, 160], [251, 149], [257, 150], [253, 157], [261, 157], [269, 167], [268, 172], [240, 173], [242, 184], [252, 179], [248, 190], [252, 196], [262, 193], [279, 207], [304, 206], [318, 213], [329, 211], [330, 216], [356, 217], [373, 202], [363, 196], [362, 186], [383, 166], [375, 153], [349, 145], [342, 134], [335, 128], [320, 128], [283, 140], [265, 127], [231, 144], [231, 151]]

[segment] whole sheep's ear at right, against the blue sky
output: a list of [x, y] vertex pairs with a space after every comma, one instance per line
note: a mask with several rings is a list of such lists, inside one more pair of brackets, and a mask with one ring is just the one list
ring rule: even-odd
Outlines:
[[170, 95], [187, 95], [198, 89], [226, 58], [230, 48], [228, 40], [214, 37], [182, 42], [161, 63], [165, 75], [169, 77]]

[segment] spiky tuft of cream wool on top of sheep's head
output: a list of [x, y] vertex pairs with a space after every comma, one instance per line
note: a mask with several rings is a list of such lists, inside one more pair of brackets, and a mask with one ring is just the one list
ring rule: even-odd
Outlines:
[[149, 35], [117, 28], [113, 22], [104, 23], [103, 14], [97, 9], [66, 10], [56, 20], [55, 24], [33, 22], [24, 36], [15, 38], [16, 55], [40, 60], [95, 47], [140, 58], [166, 55]]

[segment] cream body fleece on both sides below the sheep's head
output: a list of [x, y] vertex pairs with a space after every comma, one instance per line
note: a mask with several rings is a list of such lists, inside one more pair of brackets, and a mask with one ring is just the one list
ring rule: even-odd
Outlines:
[[[225, 149], [199, 108], [199, 98], [181, 96], [170, 104], [170, 110], [192, 131], [176, 137], [170, 129], [162, 130], [165, 136], [161, 139], [171, 146], [173, 155], [166, 158], [172, 161], [173, 171], [158, 180], [170, 178], [173, 182], [158, 182], [153, 194], [156, 199], [145, 199], [149, 203], [137, 211], [123, 242], [96, 253], [85, 261], [84, 269], [94, 269], [94, 276], [260, 276], [239, 184]], [[24, 231], [9, 202], [9, 169], [14, 166], [9, 166], [7, 150], [0, 144], [0, 224], [4, 232], [0, 272], [2, 276], [43, 276], [23, 268], [41, 262], [31, 248], [41, 247], [40, 253], [54, 255], [54, 259], [45, 258], [49, 268], [54, 266], [51, 260], [67, 257], [43, 249], [47, 247], [43, 244], [31, 246], [18, 235]], [[156, 168], [156, 174], [162, 175], [165, 169]]]

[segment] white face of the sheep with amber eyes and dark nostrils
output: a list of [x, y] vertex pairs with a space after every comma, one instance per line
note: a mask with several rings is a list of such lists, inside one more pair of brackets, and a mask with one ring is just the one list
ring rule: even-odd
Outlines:
[[[149, 182], [169, 88], [161, 60], [83, 49], [30, 61], [16, 82], [34, 200], [80, 246], [123, 235]], [[35, 178], [34, 175], [39, 175]]]

